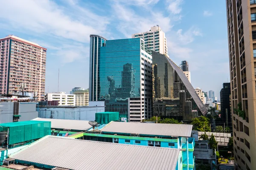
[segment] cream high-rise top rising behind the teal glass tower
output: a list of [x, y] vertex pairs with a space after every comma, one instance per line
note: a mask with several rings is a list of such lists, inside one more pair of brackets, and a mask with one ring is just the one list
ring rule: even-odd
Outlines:
[[145, 46], [168, 56], [165, 33], [161, 30], [160, 26], [153, 26], [149, 31], [133, 34], [131, 37], [142, 38], [145, 41]]

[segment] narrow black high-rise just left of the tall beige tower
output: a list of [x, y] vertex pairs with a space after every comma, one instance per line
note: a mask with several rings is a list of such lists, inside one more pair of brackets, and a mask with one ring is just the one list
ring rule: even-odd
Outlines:
[[223, 83], [223, 88], [220, 91], [221, 95], [221, 119], [228, 127], [232, 127], [232, 116], [230, 112], [230, 82]]

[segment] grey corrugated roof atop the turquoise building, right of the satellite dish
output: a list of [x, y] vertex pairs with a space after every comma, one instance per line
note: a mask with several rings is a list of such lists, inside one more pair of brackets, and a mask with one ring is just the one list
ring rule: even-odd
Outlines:
[[193, 125], [162, 124], [162, 123], [136, 123], [136, 122], [110, 122], [101, 129], [102, 132], [137, 133], [158, 136], [190, 137]]

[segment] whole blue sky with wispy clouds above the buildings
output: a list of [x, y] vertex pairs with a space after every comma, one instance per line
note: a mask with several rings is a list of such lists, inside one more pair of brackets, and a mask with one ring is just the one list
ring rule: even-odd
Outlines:
[[[1, 0], [0, 37], [47, 48], [46, 92], [89, 87], [89, 35], [131, 38], [159, 25], [170, 58], [189, 62], [194, 88], [219, 98], [230, 79], [224, 0]], [[48, 88], [49, 87], [49, 88]]]

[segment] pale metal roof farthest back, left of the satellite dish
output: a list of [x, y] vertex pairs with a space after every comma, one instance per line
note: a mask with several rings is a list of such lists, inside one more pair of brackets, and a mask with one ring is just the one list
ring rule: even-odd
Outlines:
[[87, 130], [92, 126], [89, 125], [87, 120], [69, 120], [69, 119], [46, 119], [46, 118], [35, 118], [33, 120], [38, 121], [49, 121], [51, 122], [52, 128], [58, 129], [73, 129], [73, 130]]

